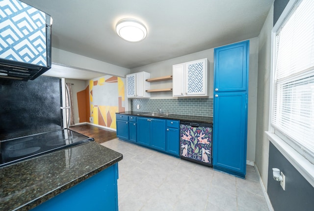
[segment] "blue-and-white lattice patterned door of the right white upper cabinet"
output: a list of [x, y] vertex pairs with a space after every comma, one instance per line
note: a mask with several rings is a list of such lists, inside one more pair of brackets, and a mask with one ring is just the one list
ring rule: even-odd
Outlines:
[[186, 95], [207, 95], [207, 59], [201, 59], [185, 64]]

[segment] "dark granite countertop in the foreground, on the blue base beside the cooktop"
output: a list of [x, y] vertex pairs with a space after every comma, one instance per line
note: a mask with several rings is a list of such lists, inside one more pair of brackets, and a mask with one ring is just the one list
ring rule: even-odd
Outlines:
[[94, 141], [0, 168], [0, 210], [27, 211], [121, 161]]

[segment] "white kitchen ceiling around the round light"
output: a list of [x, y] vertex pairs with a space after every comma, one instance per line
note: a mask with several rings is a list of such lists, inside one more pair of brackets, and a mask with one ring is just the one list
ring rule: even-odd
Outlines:
[[[52, 47], [132, 69], [257, 37], [274, 0], [22, 1], [52, 16]], [[144, 23], [147, 37], [121, 39], [123, 18]]]

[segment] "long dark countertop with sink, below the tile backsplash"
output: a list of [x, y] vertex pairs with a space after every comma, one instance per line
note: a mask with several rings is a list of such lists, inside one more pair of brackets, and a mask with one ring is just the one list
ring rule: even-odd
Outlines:
[[152, 117], [147, 116], [151, 112], [138, 112], [138, 111], [126, 111], [126, 112], [117, 112], [116, 114], [125, 114], [125, 115], [133, 115], [133, 116], [141, 116], [141, 117], [150, 117], [150, 118], [165, 118], [165, 119], [174, 119], [180, 121], [195, 121], [202, 123], [212, 123], [212, 117], [203, 117], [203, 116], [190, 116], [190, 115], [180, 115], [180, 114], [168, 114], [168, 116], [164, 117]]

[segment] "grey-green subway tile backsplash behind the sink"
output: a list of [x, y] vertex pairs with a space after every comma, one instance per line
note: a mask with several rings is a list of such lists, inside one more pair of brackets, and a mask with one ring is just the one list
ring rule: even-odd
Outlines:
[[213, 98], [131, 99], [131, 111], [157, 113], [157, 108], [161, 108], [169, 114], [212, 117], [212, 103]]

